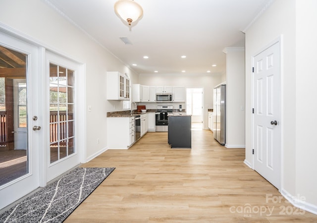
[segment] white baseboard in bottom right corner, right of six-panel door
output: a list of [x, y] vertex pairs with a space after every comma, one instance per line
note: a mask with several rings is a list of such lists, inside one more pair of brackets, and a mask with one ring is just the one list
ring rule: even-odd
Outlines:
[[282, 196], [285, 197], [285, 199], [288, 200], [295, 207], [317, 215], [317, 206], [315, 204], [311, 204], [305, 201], [305, 197], [303, 197], [302, 195], [297, 194], [297, 196], [293, 196], [285, 189], [281, 189], [280, 192]]

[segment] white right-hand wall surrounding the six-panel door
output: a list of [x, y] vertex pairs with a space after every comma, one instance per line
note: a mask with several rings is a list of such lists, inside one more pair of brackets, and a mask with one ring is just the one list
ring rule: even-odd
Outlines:
[[[246, 31], [246, 163], [252, 165], [252, 56], [281, 37], [281, 188], [317, 213], [316, 0], [275, 0]], [[298, 199], [293, 202], [300, 204]]]

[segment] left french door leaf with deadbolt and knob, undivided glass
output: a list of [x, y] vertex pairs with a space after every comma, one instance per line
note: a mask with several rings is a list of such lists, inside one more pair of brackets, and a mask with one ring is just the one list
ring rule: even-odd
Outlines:
[[[39, 144], [41, 141], [39, 135], [41, 132], [33, 131], [33, 126], [38, 126], [40, 120], [33, 120], [32, 117], [41, 115], [39, 114], [39, 106], [41, 105], [39, 105], [38, 97], [38, 47], [0, 31], [0, 50], [1, 57], [6, 56], [4, 60], [6, 64], [0, 67], [1, 78], [5, 79], [5, 91], [1, 91], [3, 95], [0, 95], [0, 98], [5, 98], [5, 103], [2, 104], [1, 109], [5, 110], [4, 115], [6, 115], [5, 118], [2, 116], [1, 125], [4, 126], [3, 124], [5, 124], [5, 128], [2, 128], [2, 130], [8, 130], [5, 136], [7, 148], [0, 152], [1, 154], [5, 152], [10, 155], [16, 155], [17, 152], [23, 153], [22, 156], [12, 162], [10, 160], [5, 162], [5, 165], [1, 165], [1, 209], [39, 187]], [[14, 105], [15, 100], [13, 99], [13, 95], [16, 96], [12, 90], [14, 89], [13, 82], [19, 82], [13, 81], [15, 79], [24, 79], [23, 83], [20, 84], [23, 95], [20, 95], [21, 108], [19, 111], [16, 107], [17, 104]], [[17, 116], [13, 115], [14, 110], [17, 112]], [[15, 138], [15, 130], [25, 131], [23, 137]], [[19, 142], [15, 142], [16, 140]], [[18, 147], [21, 146], [21, 149], [25, 149], [25, 151], [17, 151], [15, 144], [19, 145]], [[10, 171], [13, 171], [13, 174], [10, 174]], [[2, 174], [5, 173], [7, 175], [3, 177]], [[17, 177], [15, 177], [16, 175]], [[7, 177], [10, 177], [9, 181], [5, 181]]]

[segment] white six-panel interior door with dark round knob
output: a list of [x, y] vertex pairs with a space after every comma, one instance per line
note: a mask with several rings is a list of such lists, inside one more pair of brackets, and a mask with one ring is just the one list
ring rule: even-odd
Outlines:
[[280, 186], [280, 42], [254, 57], [254, 169]]

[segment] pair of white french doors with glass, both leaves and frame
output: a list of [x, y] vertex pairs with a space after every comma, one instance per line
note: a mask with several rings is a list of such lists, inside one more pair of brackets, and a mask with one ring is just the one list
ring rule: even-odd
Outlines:
[[84, 65], [0, 30], [0, 209], [85, 161], [84, 86]]

